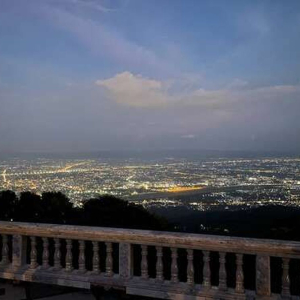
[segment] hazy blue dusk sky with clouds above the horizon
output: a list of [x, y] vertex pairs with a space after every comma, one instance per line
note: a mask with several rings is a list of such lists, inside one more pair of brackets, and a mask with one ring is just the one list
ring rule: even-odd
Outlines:
[[300, 1], [0, 0], [0, 151], [300, 150]]

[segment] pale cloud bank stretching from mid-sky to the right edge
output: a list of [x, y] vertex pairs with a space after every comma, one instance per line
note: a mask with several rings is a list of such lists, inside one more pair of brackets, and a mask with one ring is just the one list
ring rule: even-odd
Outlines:
[[230, 88], [219, 90], [198, 88], [178, 91], [170, 82], [176, 85], [176, 81], [172, 80], [164, 82], [123, 72], [112, 78], [97, 80], [96, 85], [105, 88], [111, 100], [135, 107], [226, 109], [248, 102], [284, 100], [286, 95], [300, 92], [300, 87], [294, 85], [249, 88], [247, 83], [241, 80], [235, 80], [235, 84]]

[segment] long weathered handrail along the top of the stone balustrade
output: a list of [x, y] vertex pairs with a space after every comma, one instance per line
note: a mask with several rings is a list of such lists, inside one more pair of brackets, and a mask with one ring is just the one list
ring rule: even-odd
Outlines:
[[5, 221], [0, 221], [0, 233], [7, 235], [108, 241], [290, 258], [300, 257], [300, 242], [285, 240]]

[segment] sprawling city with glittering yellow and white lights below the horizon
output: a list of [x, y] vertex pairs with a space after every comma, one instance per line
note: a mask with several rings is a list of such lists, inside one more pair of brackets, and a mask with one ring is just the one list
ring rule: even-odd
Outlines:
[[146, 208], [300, 205], [300, 158], [7, 159], [0, 190], [60, 191], [75, 205], [110, 194]]

